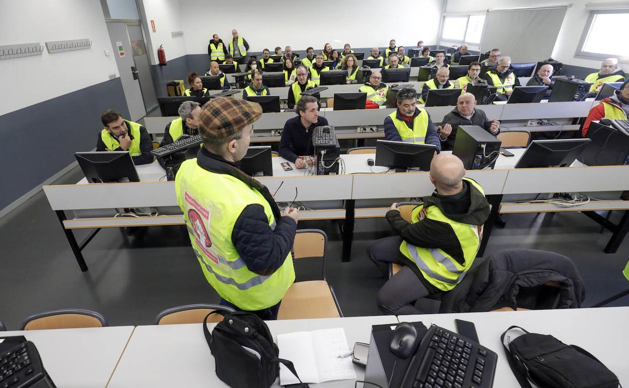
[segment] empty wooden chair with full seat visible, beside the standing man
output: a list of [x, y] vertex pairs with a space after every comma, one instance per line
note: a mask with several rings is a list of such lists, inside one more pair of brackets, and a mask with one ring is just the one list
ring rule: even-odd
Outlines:
[[325, 279], [325, 247], [328, 236], [318, 229], [298, 230], [294, 260], [321, 258], [321, 280], [294, 282], [284, 295], [277, 319], [342, 317], [334, 290]]

